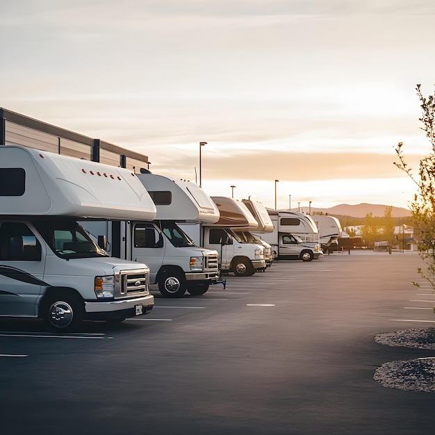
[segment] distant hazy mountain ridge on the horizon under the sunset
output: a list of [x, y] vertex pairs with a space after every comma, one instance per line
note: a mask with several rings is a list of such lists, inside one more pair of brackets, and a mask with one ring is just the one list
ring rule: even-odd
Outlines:
[[[342, 216], [352, 216], [352, 217], [366, 217], [368, 213], [372, 213], [373, 216], [384, 216], [385, 208], [381, 204], [340, 204], [331, 208], [314, 208], [311, 207], [311, 214], [313, 213], [328, 213], [331, 216], [342, 215]], [[297, 208], [292, 208], [292, 211], [298, 211]], [[309, 213], [308, 207], [301, 207], [301, 211], [304, 213]], [[407, 208], [393, 207], [391, 211], [392, 217], [408, 217], [411, 216], [411, 211]]]

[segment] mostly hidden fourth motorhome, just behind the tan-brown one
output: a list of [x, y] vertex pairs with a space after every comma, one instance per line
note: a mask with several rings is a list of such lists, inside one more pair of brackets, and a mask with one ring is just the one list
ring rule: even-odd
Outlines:
[[272, 233], [273, 223], [270, 219], [268, 209], [265, 208], [261, 202], [253, 201], [252, 199], [242, 199], [243, 204], [247, 206], [247, 209], [250, 211], [250, 213], [254, 216], [255, 220], [257, 221], [257, 227], [253, 228], [251, 231], [247, 231], [247, 229], [233, 229], [240, 238], [243, 238], [245, 242], [247, 243], [261, 243], [264, 247], [264, 259], [266, 262], [266, 267], [270, 268], [273, 262], [273, 254], [272, 254], [272, 247], [269, 245], [269, 243], [265, 242], [265, 240], [262, 240], [261, 238], [258, 238], [257, 236], [254, 236], [253, 232], [258, 233]]

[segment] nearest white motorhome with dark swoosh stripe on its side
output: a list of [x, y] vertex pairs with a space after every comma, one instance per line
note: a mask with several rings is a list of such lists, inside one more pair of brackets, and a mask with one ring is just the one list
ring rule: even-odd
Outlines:
[[47, 151], [0, 147], [0, 315], [122, 321], [154, 306], [145, 264], [110, 258], [78, 219], [152, 219], [129, 170]]

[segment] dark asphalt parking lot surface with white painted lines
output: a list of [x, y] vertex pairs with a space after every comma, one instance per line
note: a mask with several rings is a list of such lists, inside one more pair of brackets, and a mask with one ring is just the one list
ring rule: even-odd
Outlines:
[[0, 433], [432, 434], [435, 393], [373, 380], [388, 361], [435, 357], [373, 339], [435, 324], [420, 265], [400, 252], [280, 261], [76, 334], [0, 320]]

